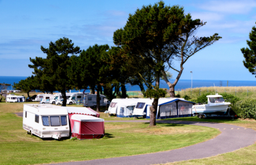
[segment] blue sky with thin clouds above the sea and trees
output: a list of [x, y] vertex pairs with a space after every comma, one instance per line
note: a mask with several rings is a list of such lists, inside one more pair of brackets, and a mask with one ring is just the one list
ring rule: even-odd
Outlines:
[[[0, 76], [30, 76], [29, 57], [46, 57], [40, 46], [61, 37], [86, 49], [113, 45], [113, 32], [122, 28], [137, 8], [153, 0], [0, 0]], [[193, 19], [207, 24], [198, 36], [218, 33], [223, 38], [198, 52], [184, 65], [181, 79], [256, 80], [244, 67], [240, 49], [256, 22], [256, 1], [165, 0], [180, 5]], [[178, 64], [175, 64], [179, 66]], [[169, 70], [174, 76], [175, 71]]]

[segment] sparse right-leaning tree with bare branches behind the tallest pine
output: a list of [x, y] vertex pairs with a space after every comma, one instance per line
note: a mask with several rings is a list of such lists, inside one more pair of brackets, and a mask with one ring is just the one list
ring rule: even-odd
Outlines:
[[[217, 33], [209, 37], [196, 36], [198, 29], [205, 24], [206, 22], [201, 22], [199, 19], [192, 20], [190, 14], [187, 14], [183, 33], [180, 34], [179, 40], [171, 43], [172, 47], [175, 49], [175, 53], [173, 53], [171, 58], [166, 61], [167, 68], [169, 67], [177, 71], [178, 75], [175, 78], [175, 81], [170, 83], [166, 72], [162, 70], [162, 73], [164, 80], [169, 86], [169, 93], [172, 98], [175, 97], [174, 87], [180, 79], [185, 62], [198, 51], [203, 50], [207, 46], [212, 45], [214, 42], [222, 38], [221, 36], [218, 36]], [[172, 66], [172, 59], [177, 60], [178, 63], [180, 63], [180, 69], [175, 69], [175, 67]]]

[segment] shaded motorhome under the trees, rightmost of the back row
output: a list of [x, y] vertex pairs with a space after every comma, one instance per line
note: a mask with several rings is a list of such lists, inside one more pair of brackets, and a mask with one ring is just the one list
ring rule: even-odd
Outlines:
[[[84, 106], [92, 106], [93, 108], [96, 108], [97, 101], [96, 101], [97, 95], [96, 94], [87, 94], [84, 95]], [[99, 106], [109, 106], [110, 101], [106, 98], [105, 95], [99, 95]]]

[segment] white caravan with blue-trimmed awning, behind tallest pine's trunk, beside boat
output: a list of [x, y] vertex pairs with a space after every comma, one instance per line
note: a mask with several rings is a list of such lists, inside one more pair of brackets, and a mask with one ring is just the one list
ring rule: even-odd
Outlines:
[[[150, 106], [154, 99], [146, 103], [144, 112], [145, 118], [150, 118]], [[183, 98], [160, 98], [157, 106], [157, 119], [177, 118], [177, 117], [191, 117], [192, 106], [194, 102], [186, 101]]]

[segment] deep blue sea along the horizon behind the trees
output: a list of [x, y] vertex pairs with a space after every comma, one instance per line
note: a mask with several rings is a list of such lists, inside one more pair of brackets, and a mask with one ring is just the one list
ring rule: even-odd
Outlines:
[[[21, 76], [0, 76], [0, 83], [7, 83], [12, 84], [18, 83], [20, 80], [24, 80], [27, 77], [21, 77]], [[169, 80], [171, 83], [173, 83], [175, 80]], [[227, 87], [227, 80], [182, 80], [180, 79], [175, 86], [175, 90], [181, 90], [186, 88], [191, 88], [191, 85], [193, 88], [195, 87], [213, 87], [214, 85], [216, 87]], [[140, 87], [138, 85], [131, 86], [130, 84], [126, 84], [126, 90], [127, 91], [140, 91]], [[241, 81], [241, 80], [228, 80], [228, 86], [229, 87], [241, 87], [241, 86], [256, 86], [256, 81]], [[147, 87], [144, 86], [146, 89]], [[169, 89], [168, 85], [165, 81], [160, 80], [160, 88], [167, 88]], [[11, 90], [12, 86], [8, 87], [8, 90]], [[56, 91], [58, 92], [58, 91]], [[71, 90], [71, 92], [77, 92], [77, 90]], [[81, 92], [83, 92], [83, 89], [81, 89]], [[86, 92], [90, 92], [89, 89], [86, 90]]]

